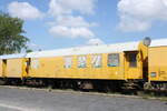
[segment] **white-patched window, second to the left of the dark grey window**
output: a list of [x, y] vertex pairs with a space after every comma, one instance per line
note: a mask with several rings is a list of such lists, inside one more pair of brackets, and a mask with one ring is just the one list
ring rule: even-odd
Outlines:
[[78, 57], [78, 68], [86, 68], [86, 67], [87, 67], [86, 56]]

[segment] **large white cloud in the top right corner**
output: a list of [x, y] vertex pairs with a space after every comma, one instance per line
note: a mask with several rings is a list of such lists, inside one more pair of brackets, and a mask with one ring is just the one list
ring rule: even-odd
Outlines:
[[146, 31], [157, 20], [167, 20], [167, 0], [120, 0], [119, 29], [122, 31]]

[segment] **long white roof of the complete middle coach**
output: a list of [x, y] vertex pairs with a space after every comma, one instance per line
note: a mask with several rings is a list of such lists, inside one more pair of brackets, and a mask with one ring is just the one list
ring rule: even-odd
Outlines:
[[26, 58], [42, 58], [42, 57], [60, 57], [60, 56], [78, 56], [92, 53], [109, 53], [138, 50], [139, 42], [125, 42], [102, 46], [76, 47], [68, 49], [58, 49], [49, 51], [30, 52]]

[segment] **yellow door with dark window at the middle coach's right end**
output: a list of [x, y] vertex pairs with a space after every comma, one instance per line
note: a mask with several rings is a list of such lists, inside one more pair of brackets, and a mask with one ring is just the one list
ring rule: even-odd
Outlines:
[[141, 70], [138, 51], [125, 52], [125, 78], [143, 79]]

